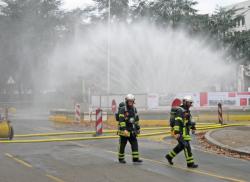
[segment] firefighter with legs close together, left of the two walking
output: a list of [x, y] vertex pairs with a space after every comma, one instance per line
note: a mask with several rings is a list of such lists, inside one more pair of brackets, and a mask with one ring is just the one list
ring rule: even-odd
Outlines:
[[119, 152], [118, 159], [120, 163], [126, 163], [125, 161], [125, 147], [129, 141], [132, 149], [133, 162], [141, 163], [139, 158], [137, 135], [140, 133], [139, 116], [137, 110], [134, 107], [135, 97], [132, 94], [128, 94], [125, 98], [125, 103], [122, 102], [119, 105], [118, 117], [119, 117]]

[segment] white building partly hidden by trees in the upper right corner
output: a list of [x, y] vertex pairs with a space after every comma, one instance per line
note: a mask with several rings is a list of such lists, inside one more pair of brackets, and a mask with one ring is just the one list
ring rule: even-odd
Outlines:
[[250, 30], [250, 0], [226, 6], [226, 9], [235, 9], [235, 28], [233, 31]]

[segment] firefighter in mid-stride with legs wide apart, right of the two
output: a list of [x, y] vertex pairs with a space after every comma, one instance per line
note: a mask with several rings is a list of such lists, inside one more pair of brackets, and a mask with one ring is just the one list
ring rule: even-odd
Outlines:
[[195, 123], [192, 121], [190, 114], [190, 107], [192, 106], [193, 100], [191, 96], [186, 96], [183, 99], [183, 104], [179, 107], [175, 115], [175, 124], [173, 127], [174, 137], [177, 139], [177, 146], [166, 155], [166, 159], [169, 164], [173, 165], [173, 158], [184, 150], [184, 154], [187, 161], [188, 168], [197, 168], [198, 165], [194, 163], [194, 157], [191, 151], [190, 141], [190, 130], [194, 132]]

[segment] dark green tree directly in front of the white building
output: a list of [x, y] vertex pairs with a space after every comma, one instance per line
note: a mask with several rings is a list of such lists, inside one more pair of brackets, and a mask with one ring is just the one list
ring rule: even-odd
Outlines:
[[250, 62], [250, 31], [238, 32], [236, 23], [242, 15], [233, 9], [218, 9], [209, 19], [209, 32], [217, 40], [218, 47], [225, 47], [235, 60]]

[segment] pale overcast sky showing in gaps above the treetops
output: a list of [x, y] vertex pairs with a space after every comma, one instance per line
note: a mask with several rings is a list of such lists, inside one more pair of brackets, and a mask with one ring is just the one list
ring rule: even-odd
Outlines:
[[[119, 0], [118, 0], [119, 1]], [[246, 0], [197, 0], [199, 5], [197, 9], [199, 13], [212, 13], [217, 6], [227, 6]], [[76, 7], [84, 7], [91, 4], [92, 0], [64, 0], [64, 8], [73, 9]]]

